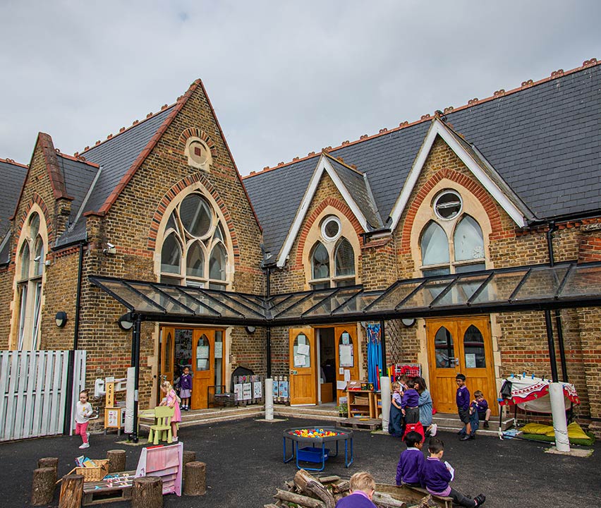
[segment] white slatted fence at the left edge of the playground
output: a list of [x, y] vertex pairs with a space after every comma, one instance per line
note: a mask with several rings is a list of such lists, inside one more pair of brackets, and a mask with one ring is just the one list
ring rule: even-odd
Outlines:
[[67, 393], [75, 404], [85, 383], [85, 351], [75, 351], [67, 386], [69, 351], [0, 351], [0, 441], [63, 433]]

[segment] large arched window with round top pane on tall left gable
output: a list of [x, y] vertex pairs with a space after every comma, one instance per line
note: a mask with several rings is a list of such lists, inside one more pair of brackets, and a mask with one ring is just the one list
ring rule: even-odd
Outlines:
[[184, 195], [168, 207], [160, 245], [160, 280], [178, 286], [226, 290], [232, 255], [225, 219], [202, 191]]

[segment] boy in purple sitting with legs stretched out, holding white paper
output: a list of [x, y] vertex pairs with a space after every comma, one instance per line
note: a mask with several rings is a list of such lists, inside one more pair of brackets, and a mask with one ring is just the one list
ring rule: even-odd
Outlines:
[[452, 497], [453, 504], [467, 508], [479, 507], [485, 502], [486, 497], [483, 494], [478, 494], [471, 499], [451, 488], [449, 485], [453, 479], [451, 471], [446, 464], [440, 461], [444, 455], [444, 443], [441, 440], [432, 437], [427, 450], [430, 452], [430, 456], [425, 459], [420, 473], [422, 483], [430, 494]]

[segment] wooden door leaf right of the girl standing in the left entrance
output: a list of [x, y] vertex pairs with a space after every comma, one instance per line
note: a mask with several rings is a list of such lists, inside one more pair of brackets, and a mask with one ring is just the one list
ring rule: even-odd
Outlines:
[[215, 330], [195, 329], [192, 334], [192, 409], [207, 408], [207, 395], [214, 386]]

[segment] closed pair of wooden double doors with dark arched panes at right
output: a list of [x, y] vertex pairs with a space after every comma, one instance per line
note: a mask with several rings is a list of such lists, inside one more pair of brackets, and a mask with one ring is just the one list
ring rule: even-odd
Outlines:
[[456, 413], [455, 376], [466, 376], [471, 397], [484, 394], [493, 415], [499, 414], [492, 364], [490, 321], [485, 317], [427, 320], [430, 394], [441, 413]]

